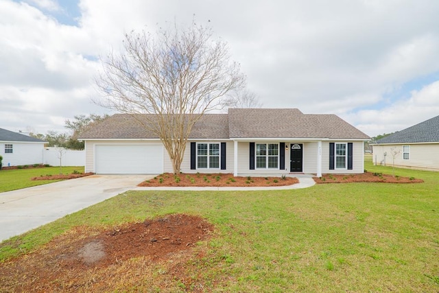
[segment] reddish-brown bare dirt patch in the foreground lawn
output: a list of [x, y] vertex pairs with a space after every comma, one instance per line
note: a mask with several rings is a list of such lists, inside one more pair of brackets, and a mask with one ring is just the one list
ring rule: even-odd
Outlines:
[[142, 288], [154, 287], [167, 291], [173, 280], [186, 280], [184, 285], [189, 287], [197, 281], [198, 287], [191, 288], [202, 288], [200, 280], [187, 276], [187, 263], [202, 257], [202, 249], [194, 248], [212, 232], [212, 224], [185, 214], [104, 231], [78, 226], [34, 253], [1, 263], [0, 292], [108, 292], [129, 288], [145, 292]]

